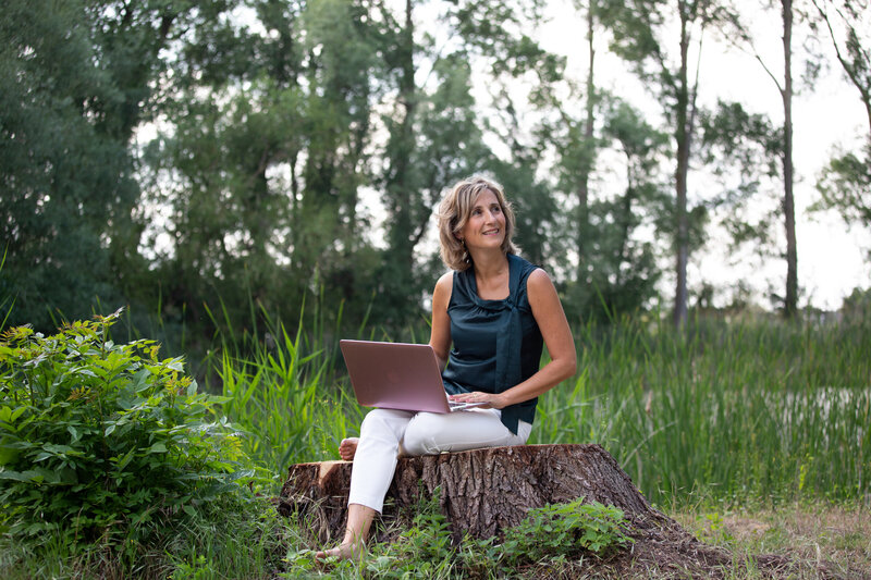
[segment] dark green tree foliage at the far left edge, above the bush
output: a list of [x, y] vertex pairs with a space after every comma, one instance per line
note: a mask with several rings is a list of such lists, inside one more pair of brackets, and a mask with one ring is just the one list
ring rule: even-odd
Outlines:
[[52, 311], [87, 316], [95, 295], [116, 295], [100, 234], [122, 223], [134, 193], [126, 144], [87, 118], [112, 87], [94, 64], [82, 4], [14, 0], [0, 24], [0, 239], [10, 258], [0, 288], [15, 298], [11, 323], [37, 329], [52, 328]]

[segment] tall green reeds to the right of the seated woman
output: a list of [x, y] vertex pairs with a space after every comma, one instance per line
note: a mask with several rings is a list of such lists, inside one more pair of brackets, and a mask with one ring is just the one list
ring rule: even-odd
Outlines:
[[624, 319], [576, 337], [581, 372], [543, 397], [533, 441], [599, 442], [657, 502], [871, 491], [868, 324]]

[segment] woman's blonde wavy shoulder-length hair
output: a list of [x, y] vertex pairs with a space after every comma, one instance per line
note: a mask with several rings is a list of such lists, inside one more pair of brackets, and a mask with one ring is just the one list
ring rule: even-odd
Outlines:
[[502, 240], [502, 251], [518, 254], [519, 249], [512, 242], [514, 234], [514, 210], [505, 199], [502, 186], [481, 175], [466, 177], [454, 185], [439, 205], [439, 239], [441, 242], [441, 257], [444, 264], [452, 270], [467, 270], [471, 266], [471, 257], [466, 251], [466, 246], [459, 240], [457, 234], [466, 226], [475, 208], [475, 201], [483, 192], [492, 192], [496, 196], [502, 213], [505, 215], [505, 238]]

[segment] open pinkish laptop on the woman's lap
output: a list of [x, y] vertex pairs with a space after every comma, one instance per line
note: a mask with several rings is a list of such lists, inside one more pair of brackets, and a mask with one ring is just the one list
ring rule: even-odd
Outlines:
[[364, 407], [453, 412], [481, 403], [452, 403], [428, 344], [339, 341], [351, 385]]

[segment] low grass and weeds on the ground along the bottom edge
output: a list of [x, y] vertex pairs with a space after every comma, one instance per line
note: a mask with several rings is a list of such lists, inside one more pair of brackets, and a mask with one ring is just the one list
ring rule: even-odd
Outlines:
[[[792, 578], [819, 578], [817, 565], [841, 578], [871, 577], [871, 513], [868, 507], [824, 501], [724, 507], [695, 505], [666, 509], [706, 543], [728, 548], [734, 565], [724, 578], [768, 578], [756, 562], [760, 554], [789, 556], [799, 566]], [[499, 568], [486, 548], [447, 550], [444, 529], [424, 505], [417, 526], [394, 544], [370, 546], [361, 563], [318, 566], [306, 522], [280, 518], [261, 501], [216, 505], [200, 517], [165, 530], [134, 565], [120, 566], [95, 546], [71, 550], [47, 539], [41, 548], [0, 541], [0, 577], [29, 578], [602, 578], [592, 572], [590, 555], [544, 557]], [[673, 570], [649, 570], [641, 578], [673, 578]], [[608, 578], [608, 577], [605, 577]]]

